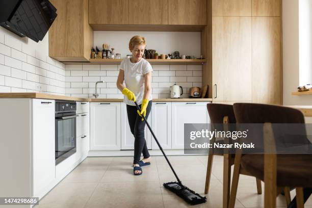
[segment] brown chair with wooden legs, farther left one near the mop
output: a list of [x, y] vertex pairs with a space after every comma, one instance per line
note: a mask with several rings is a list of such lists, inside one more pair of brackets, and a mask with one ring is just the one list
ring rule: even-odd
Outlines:
[[[217, 103], [209, 103], [207, 104], [207, 110], [210, 116], [210, 120], [212, 124], [220, 124], [220, 123], [236, 123], [236, 118], [233, 112], [232, 105], [224, 105], [224, 104], [217, 104]], [[218, 127], [223, 126], [227, 129], [218, 129], [219, 131], [227, 131], [227, 125], [217, 125]], [[214, 137], [211, 140], [212, 143], [216, 142], [216, 138]], [[229, 141], [218, 141], [229, 143]], [[231, 165], [234, 164], [234, 154], [229, 154], [226, 152], [215, 151], [214, 148], [211, 148], [209, 151], [208, 163], [207, 163], [207, 172], [206, 172], [206, 182], [205, 182], [205, 191], [204, 193], [207, 194], [209, 191], [210, 185], [210, 178], [211, 178], [211, 171], [212, 171], [212, 163], [214, 155], [223, 155], [223, 207], [227, 208], [228, 201], [229, 201], [229, 194], [230, 194], [230, 176], [231, 176]], [[243, 173], [242, 174], [247, 174]], [[257, 193], [262, 193], [261, 188], [261, 180], [256, 179], [257, 184]]]

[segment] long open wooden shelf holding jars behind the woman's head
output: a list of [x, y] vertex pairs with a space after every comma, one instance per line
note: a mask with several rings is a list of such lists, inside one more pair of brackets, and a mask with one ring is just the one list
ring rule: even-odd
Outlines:
[[[201, 65], [205, 59], [146, 59], [150, 64], [192, 64]], [[89, 59], [90, 63], [120, 64], [122, 59]]]

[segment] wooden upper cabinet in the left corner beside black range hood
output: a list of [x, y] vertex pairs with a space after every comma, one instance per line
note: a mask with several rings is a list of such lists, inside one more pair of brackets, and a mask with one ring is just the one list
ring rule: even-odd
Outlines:
[[93, 30], [88, 0], [51, 0], [57, 18], [49, 29], [49, 57], [58, 61], [89, 61]]

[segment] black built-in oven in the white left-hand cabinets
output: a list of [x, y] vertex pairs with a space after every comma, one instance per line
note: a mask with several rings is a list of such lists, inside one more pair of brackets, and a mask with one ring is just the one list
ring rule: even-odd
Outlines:
[[55, 102], [55, 164], [76, 152], [76, 102]]

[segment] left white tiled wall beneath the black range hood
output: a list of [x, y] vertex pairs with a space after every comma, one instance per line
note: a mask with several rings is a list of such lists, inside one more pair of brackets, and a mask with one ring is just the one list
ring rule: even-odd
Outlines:
[[0, 27], [0, 93], [64, 95], [65, 65], [48, 57], [48, 34], [35, 41]]

